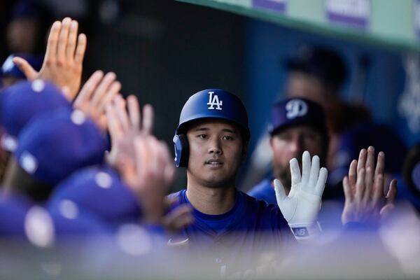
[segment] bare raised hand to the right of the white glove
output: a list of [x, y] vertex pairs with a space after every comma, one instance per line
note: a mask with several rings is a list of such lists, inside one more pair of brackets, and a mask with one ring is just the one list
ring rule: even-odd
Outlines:
[[346, 201], [342, 213], [342, 223], [357, 222], [365, 225], [377, 225], [381, 214], [393, 207], [397, 195], [397, 181], [389, 185], [384, 197], [385, 155], [379, 152], [377, 165], [374, 167], [374, 148], [362, 149], [358, 160], [353, 160], [349, 176], [343, 179]]

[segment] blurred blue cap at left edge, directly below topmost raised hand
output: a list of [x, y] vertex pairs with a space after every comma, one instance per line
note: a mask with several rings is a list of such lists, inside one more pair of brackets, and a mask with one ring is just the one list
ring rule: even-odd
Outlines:
[[1, 144], [15, 151], [23, 127], [40, 113], [71, 110], [71, 104], [52, 83], [43, 80], [22, 81], [0, 93], [0, 125], [6, 130]]

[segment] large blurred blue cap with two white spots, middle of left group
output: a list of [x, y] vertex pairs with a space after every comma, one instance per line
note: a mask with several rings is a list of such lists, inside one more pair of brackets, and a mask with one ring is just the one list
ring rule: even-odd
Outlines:
[[78, 169], [104, 162], [106, 139], [82, 111], [43, 113], [19, 136], [15, 158], [43, 183], [55, 185]]

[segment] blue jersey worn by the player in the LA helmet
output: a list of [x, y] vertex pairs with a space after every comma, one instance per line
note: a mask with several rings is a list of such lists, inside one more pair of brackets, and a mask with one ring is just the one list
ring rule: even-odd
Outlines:
[[[173, 208], [190, 204], [186, 190], [171, 196], [177, 198]], [[207, 215], [193, 207], [193, 215], [195, 222], [169, 239], [168, 244], [187, 243], [188, 248], [203, 255], [211, 251], [221, 266], [238, 258], [242, 263], [252, 262], [258, 252], [270, 250], [278, 253], [290, 242], [295, 242], [276, 205], [255, 200], [241, 191], [237, 191], [235, 206], [227, 213]]]

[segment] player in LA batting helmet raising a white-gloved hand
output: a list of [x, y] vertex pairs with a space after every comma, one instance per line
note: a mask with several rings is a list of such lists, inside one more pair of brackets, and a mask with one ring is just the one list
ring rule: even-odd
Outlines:
[[195, 222], [169, 239], [169, 245], [220, 248], [216, 262], [223, 267], [239, 256], [252, 258], [251, 251], [284, 246], [293, 235], [307, 239], [319, 232], [316, 216], [327, 170], [319, 168], [318, 156], [311, 162], [309, 153], [303, 154], [302, 174], [292, 160], [294, 191], [288, 196], [276, 181], [279, 209], [236, 188], [249, 137], [246, 109], [234, 94], [210, 89], [188, 99], [174, 136], [176, 166], [186, 167], [188, 183], [186, 190], [171, 196], [176, 197], [175, 207], [193, 207]]

